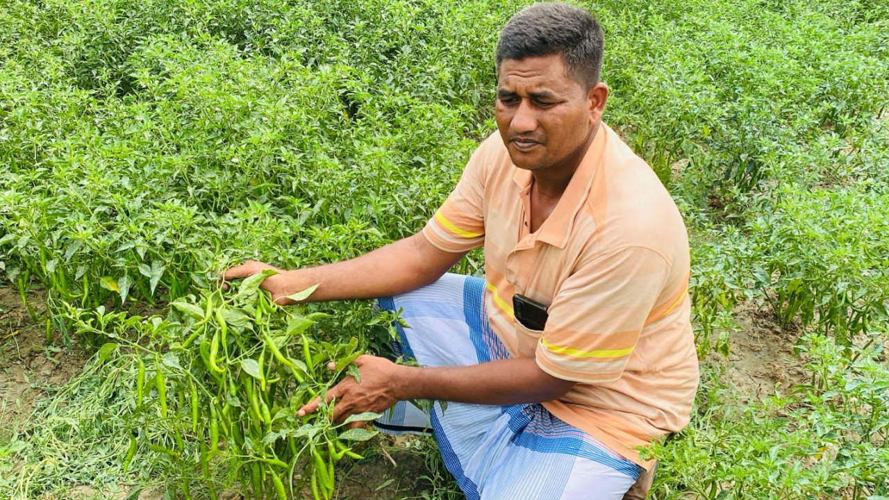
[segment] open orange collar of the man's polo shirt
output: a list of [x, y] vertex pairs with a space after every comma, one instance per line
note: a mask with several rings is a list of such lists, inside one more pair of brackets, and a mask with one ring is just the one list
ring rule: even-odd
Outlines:
[[[593, 177], [596, 174], [598, 165], [602, 163], [602, 153], [605, 150], [605, 136], [610, 132], [605, 122], [600, 122], [596, 137], [593, 138], [592, 144], [589, 145], [586, 154], [581, 159], [581, 165], [577, 166], [577, 170], [568, 182], [568, 187], [559, 198], [556, 208], [543, 225], [537, 230], [537, 240], [549, 243], [549, 245], [565, 248], [568, 244], [568, 237], [574, 225], [574, 218], [581, 210], [581, 206], [587, 200], [589, 195], [589, 187], [593, 183]], [[526, 190], [531, 186], [533, 174], [530, 170], [516, 167], [516, 173], [513, 175], [513, 181], [518, 185], [519, 190]]]

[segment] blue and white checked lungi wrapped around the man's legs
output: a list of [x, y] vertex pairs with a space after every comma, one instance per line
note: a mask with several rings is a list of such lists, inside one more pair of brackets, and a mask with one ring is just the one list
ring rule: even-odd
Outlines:
[[[488, 324], [484, 290], [483, 278], [446, 274], [380, 299], [380, 309], [402, 310], [410, 326], [396, 326], [396, 352], [424, 367], [508, 359]], [[539, 404], [435, 402], [426, 413], [402, 401], [374, 426], [395, 434], [431, 429], [468, 500], [620, 500], [643, 472]]]

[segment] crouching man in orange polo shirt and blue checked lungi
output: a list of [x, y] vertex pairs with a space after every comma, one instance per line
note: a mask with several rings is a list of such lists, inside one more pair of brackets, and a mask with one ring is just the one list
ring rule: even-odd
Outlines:
[[[467, 498], [620, 499], [653, 464], [636, 449], [689, 420], [698, 364], [682, 218], [645, 162], [601, 121], [603, 35], [587, 12], [536, 4], [497, 46], [493, 133], [410, 238], [347, 262], [281, 270], [276, 301], [380, 299], [402, 309], [420, 367], [356, 360], [334, 418], [387, 431], [431, 424]], [[485, 246], [485, 279], [445, 272]], [[247, 262], [225, 273], [268, 269]], [[450, 401], [429, 415], [411, 399]], [[316, 409], [312, 401], [300, 415]]]

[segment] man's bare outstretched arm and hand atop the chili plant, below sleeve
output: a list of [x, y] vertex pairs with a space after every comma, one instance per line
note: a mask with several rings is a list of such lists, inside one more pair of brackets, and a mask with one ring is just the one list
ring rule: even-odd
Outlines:
[[263, 262], [248, 261], [225, 271], [224, 278], [247, 278], [262, 270], [278, 270], [278, 274], [266, 278], [262, 287], [280, 305], [294, 303], [286, 296], [316, 284], [319, 286], [306, 302], [374, 299], [428, 285], [465, 254], [440, 250], [419, 232], [348, 261], [298, 270], [280, 270]]

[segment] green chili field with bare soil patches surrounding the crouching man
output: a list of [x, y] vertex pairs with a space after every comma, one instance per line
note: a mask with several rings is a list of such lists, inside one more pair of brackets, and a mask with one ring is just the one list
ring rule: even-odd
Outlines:
[[[400, 319], [217, 276], [420, 230], [526, 4], [4, 0], [0, 499], [461, 498], [433, 440], [296, 415]], [[581, 5], [692, 244], [701, 389], [651, 497], [886, 500], [889, 4]]]

